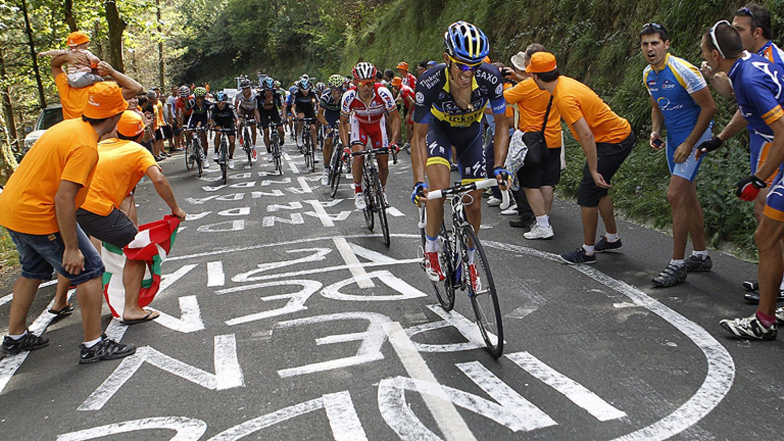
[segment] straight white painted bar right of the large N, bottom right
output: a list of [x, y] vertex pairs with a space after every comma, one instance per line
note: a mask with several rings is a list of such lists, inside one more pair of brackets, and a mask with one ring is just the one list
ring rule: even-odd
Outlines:
[[610, 403], [601, 399], [591, 392], [590, 389], [546, 365], [529, 352], [506, 354], [506, 358], [512, 360], [517, 366], [522, 367], [528, 374], [539, 378], [544, 384], [561, 392], [572, 403], [582, 407], [599, 421], [616, 420], [626, 416], [626, 412], [612, 407]]

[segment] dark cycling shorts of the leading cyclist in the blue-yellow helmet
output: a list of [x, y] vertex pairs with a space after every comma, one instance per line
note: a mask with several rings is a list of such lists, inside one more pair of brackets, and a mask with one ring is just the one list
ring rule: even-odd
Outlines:
[[463, 183], [485, 179], [485, 151], [482, 146], [481, 125], [452, 127], [430, 121], [427, 127], [427, 165], [451, 165], [452, 146], [457, 151], [457, 167]]

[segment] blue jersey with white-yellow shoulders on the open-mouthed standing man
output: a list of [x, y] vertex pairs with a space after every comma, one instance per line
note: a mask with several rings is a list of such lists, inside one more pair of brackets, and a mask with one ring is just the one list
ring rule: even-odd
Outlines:
[[642, 77], [648, 93], [662, 110], [667, 136], [686, 139], [697, 124], [700, 111], [691, 94], [707, 86], [699, 69], [668, 53], [661, 70], [649, 65], [643, 70]]

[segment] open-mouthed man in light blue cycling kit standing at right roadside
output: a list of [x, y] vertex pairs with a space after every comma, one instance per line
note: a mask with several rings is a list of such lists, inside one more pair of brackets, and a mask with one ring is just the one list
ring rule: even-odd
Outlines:
[[[642, 77], [651, 95], [651, 146], [656, 150], [665, 146], [670, 166], [667, 201], [673, 211], [673, 258], [652, 282], [655, 287], [670, 287], [684, 282], [688, 272], [710, 271], [712, 266], [695, 182], [703, 156], [696, 157], [695, 146], [710, 139], [716, 104], [699, 69], [670, 54], [665, 27], [645, 23], [640, 38], [648, 62]], [[667, 130], [666, 142], [663, 128]], [[689, 234], [694, 250], [685, 258]]]

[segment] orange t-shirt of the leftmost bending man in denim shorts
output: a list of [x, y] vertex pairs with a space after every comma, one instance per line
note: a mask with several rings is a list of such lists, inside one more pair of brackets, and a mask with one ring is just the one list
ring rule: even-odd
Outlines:
[[54, 197], [60, 181], [82, 186], [74, 204], [82, 205], [98, 162], [98, 134], [81, 119], [49, 128], [24, 155], [0, 193], [0, 225], [26, 234], [60, 231]]

